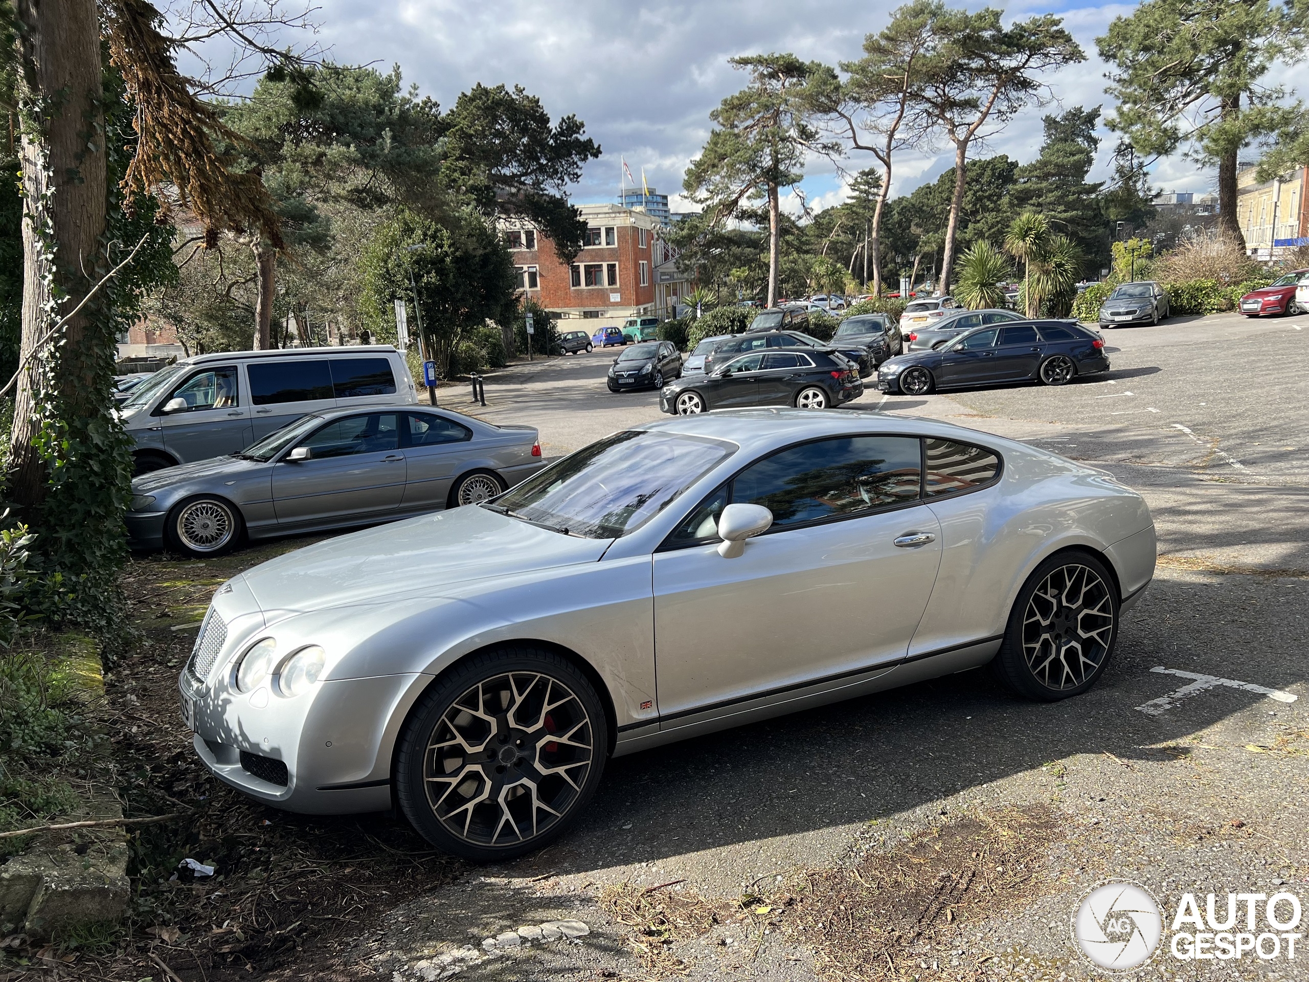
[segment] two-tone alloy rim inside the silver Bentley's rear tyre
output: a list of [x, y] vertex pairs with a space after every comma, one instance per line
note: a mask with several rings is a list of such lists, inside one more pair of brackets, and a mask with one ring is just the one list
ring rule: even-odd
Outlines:
[[1031, 676], [1056, 693], [1086, 683], [1109, 656], [1114, 619], [1100, 573], [1080, 563], [1054, 570], [1022, 615], [1022, 653]]

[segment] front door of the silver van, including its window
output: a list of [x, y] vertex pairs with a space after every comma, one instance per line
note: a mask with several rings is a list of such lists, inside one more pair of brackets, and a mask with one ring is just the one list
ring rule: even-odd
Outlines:
[[[173, 399], [186, 409], [165, 411]], [[223, 457], [254, 443], [249, 399], [241, 398], [236, 365], [202, 368], [175, 386], [154, 410], [164, 448], [183, 464]]]

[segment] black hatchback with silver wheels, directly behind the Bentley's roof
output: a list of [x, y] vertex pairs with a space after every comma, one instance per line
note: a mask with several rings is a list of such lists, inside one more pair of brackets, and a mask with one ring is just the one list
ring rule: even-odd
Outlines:
[[745, 406], [830, 409], [863, 394], [859, 369], [838, 351], [770, 348], [665, 385], [660, 409], [683, 416]]

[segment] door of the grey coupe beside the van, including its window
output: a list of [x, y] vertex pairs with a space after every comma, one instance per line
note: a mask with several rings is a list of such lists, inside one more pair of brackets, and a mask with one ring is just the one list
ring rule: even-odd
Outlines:
[[279, 525], [332, 518], [385, 517], [404, 495], [404, 452], [397, 412], [334, 419], [297, 446], [309, 460], [272, 469], [272, 503]]

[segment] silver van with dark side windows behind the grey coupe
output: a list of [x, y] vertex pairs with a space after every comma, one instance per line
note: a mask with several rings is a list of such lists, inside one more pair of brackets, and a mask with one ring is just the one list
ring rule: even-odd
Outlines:
[[118, 406], [135, 473], [242, 450], [306, 412], [416, 403], [390, 344], [196, 355], [161, 368]]

